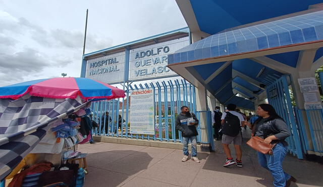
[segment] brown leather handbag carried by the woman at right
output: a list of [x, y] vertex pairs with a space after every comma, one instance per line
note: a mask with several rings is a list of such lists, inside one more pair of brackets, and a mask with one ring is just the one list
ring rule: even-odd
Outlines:
[[268, 144], [260, 137], [251, 137], [250, 140], [248, 140], [247, 145], [250, 146], [252, 149], [259, 151], [262, 154], [273, 154], [273, 148], [276, 145], [275, 144]]

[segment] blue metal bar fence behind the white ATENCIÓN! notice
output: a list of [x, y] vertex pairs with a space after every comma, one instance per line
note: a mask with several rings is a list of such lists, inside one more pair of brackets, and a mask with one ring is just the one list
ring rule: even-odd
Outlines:
[[[131, 121], [130, 93], [134, 90], [153, 89], [154, 92], [154, 108], [155, 108], [155, 135], [135, 135], [130, 134]], [[203, 111], [196, 111], [195, 87], [185, 80], [163, 81], [161, 83], [127, 85], [125, 86], [126, 98], [115, 99], [110, 101], [92, 102], [91, 108], [94, 112], [93, 119], [100, 125], [93, 130], [93, 135], [120, 137], [153, 141], [181, 142], [181, 133], [175, 129], [176, 116], [180, 113], [180, 107], [186, 105], [192, 112], [199, 117]], [[108, 111], [111, 121], [105, 121], [104, 113]], [[119, 114], [121, 115], [121, 129], [118, 129]], [[201, 142], [201, 129], [198, 126], [199, 136], [197, 140]]]

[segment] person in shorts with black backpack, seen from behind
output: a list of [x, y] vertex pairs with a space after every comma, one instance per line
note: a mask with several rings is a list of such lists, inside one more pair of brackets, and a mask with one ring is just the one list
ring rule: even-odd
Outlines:
[[[224, 152], [227, 155], [226, 162], [223, 164], [224, 167], [228, 167], [230, 165], [236, 164], [238, 167], [242, 167], [242, 150], [241, 150], [241, 143], [242, 143], [242, 133], [241, 127], [244, 127], [244, 118], [243, 116], [236, 112], [237, 105], [235, 104], [228, 104], [227, 109], [228, 111], [223, 112], [221, 117], [221, 124], [222, 124], [222, 146]], [[233, 142], [234, 148], [236, 150], [237, 159], [236, 161], [233, 160], [231, 156], [231, 151], [229, 145]]]

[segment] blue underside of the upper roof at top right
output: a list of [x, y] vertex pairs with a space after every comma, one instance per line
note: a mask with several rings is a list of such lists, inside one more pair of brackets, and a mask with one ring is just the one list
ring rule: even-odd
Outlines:
[[[215, 34], [227, 28], [304, 11], [317, 0], [219, 1], [190, 0], [201, 31]], [[217, 24], [210, 24], [217, 23]]]

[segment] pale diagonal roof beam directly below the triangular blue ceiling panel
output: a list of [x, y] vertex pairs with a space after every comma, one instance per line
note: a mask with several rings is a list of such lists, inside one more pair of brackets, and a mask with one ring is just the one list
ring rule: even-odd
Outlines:
[[271, 68], [273, 70], [276, 70], [278, 72], [281, 72], [283, 74], [291, 74], [295, 71], [295, 68], [287, 66], [280, 61], [274, 60], [272, 58], [266, 57], [266, 56], [258, 56], [258, 57], [251, 57], [249, 58], [256, 63], [259, 63], [265, 67]]

